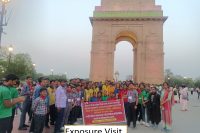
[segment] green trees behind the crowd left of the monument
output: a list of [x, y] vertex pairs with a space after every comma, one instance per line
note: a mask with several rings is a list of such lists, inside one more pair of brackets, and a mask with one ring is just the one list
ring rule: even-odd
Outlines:
[[16, 74], [21, 80], [24, 80], [26, 76], [32, 76], [34, 80], [42, 76], [49, 79], [67, 79], [65, 74], [44, 75], [37, 73], [29, 54], [13, 54], [3, 47], [0, 49], [0, 79], [8, 73]]

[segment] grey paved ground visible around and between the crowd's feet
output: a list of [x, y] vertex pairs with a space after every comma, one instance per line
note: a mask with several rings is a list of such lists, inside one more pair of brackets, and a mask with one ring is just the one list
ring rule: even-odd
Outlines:
[[[197, 94], [194, 93], [189, 99], [189, 111], [180, 111], [180, 105], [176, 104], [173, 107], [173, 130], [171, 133], [198, 133], [200, 132], [200, 100], [197, 100]], [[16, 116], [14, 121], [13, 133], [28, 133], [28, 131], [18, 131], [19, 116]], [[27, 123], [28, 124], [28, 123]], [[44, 130], [44, 133], [52, 133], [51, 129]], [[161, 133], [161, 124], [158, 129], [148, 128], [142, 125], [137, 125], [136, 129], [128, 128], [128, 133]]]

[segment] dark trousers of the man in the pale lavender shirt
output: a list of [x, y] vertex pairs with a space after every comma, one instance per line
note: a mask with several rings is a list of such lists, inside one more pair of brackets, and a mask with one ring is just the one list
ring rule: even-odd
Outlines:
[[65, 113], [65, 108], [61, 108], [60, 111], [57, 111], [54, 133], [60, 132], [60, 128], [62, 126], [63, 119], [64, 119], [64, 113]]

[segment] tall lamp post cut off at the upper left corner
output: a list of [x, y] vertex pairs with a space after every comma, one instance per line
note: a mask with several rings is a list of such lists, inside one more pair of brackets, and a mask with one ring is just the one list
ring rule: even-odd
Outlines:
[[4, 16], [6, 15], [6, 4], [9, 2], [10, 0], [1, 0], [1, 12], [0, 12], [0, 48], [1, 48], [1, 38], [2, 38], [2, 34], [3, 34], [3, 27], [7, 25], [7, 22], [4, 23]]

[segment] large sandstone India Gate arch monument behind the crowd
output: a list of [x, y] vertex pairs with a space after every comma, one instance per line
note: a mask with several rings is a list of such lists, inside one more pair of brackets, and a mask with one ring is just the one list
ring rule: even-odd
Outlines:
[[90, 18], [93, 27], [90, 80], [113, 80], [116, 44], [128, 41], [133, 46], [134, 81], [162, 83], [166, 20], [155, 0], [101, 0]]

